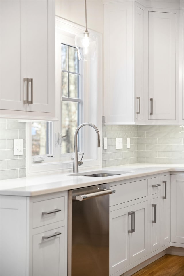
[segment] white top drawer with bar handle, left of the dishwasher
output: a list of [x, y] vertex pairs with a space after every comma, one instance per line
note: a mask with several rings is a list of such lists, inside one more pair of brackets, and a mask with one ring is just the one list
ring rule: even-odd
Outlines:
[[33, 228], [64, 220], [64, 196], [33, 203]]

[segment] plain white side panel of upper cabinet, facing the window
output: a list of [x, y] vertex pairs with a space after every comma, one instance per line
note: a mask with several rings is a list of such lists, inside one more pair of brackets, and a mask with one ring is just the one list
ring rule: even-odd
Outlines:
[[133, 2], [105, 5], [105, 122], [134, 123]]

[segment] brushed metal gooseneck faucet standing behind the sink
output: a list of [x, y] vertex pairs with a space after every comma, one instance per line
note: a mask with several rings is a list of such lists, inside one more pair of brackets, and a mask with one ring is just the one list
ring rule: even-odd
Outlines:
[[91, 123], [80, 124], [80, 126], [78, 126], [76, 128], [75, 135], [74, 135], [75, 139], [74, 139], [74, 166], [73, 166], [73, 173], [78, 173], [78, 163], [81, 162], [81, 161], [78, 162], [77, 134], [78, 134], [79, 129], [81, 129], [81, 127], [84, 127], [84, 126], [90, 126], [90, 127], [93, 127], [93, 129], [95, 129], [95, 131], [97, 133], [97, 147], [100, 147], [100, 134], [99, 134], [99, 131], [98, 131], [97, 127], [94, 124], [91, 124]]

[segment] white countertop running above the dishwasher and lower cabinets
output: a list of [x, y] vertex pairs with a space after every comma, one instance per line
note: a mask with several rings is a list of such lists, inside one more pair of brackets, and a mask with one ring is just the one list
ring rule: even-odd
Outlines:
[[86, 169], [80, 170], [79, 172], [85, 174], [86, 172], [95, 173], [97, 171], [110, 171], [111, 173], [114, 171], [119, 173], [128, 171], [130, 173], [109, 177], [87, 177], [76, 176], [76, 174], [72, 175], [72, 173], [57, 172], [34, 177], [7, 179], [0, 182], [0, 194], [10, 196], [37, 196], [164, 172], [184, 172], [184, 164], [130, 164], [98, 168], [96, 170]]

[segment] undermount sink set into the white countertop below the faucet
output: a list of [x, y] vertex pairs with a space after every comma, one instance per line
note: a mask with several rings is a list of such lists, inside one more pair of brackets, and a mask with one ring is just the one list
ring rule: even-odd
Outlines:
[[83, 173], [72, 173], [70, 176], [91, 176], [91, 177], [108, 177], [113, 175], [123, 175], [125, 173], [131, 173], [127, 171], [92, 171]]

